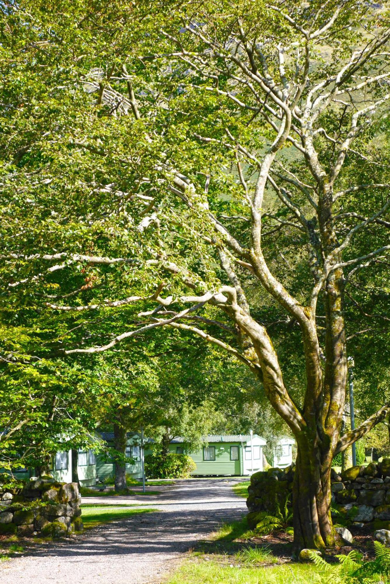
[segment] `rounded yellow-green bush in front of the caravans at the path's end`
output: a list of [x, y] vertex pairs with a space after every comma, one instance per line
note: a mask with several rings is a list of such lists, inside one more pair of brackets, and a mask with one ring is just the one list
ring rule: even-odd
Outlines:
[[188, 478], [196, 464], [187, 454], [161, 454], [145, 456], [145, 474], [148, 478]]

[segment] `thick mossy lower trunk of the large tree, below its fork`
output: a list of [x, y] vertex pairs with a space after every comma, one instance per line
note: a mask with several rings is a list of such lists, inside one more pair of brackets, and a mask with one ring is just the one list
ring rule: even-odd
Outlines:
[[[301, 441], [300, 441], [301, 442]], [[293, 486], [294, 547], [324, 548], [335, 544], [330, 517], [330, 457], [321, 464], [321, 453], [312, 440], [298, 444]]]

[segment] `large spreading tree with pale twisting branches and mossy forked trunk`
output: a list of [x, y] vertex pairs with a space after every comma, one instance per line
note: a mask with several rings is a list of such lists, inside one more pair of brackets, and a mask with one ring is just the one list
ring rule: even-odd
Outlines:
[[[25, 72], [20, 88], [6, 71], [8, 298], [64, 319], [64, 357], [169, 327], [248, 367], [297, 441], [295, 545], [333, 545], [332, 459], [390, 412], [340, 436], [350, 286], [371, 273], [388, 294], [388, 13], [113, 2], [78, 5], [68, 26], [66, 3], [45, 19], [36, 4], [19, 16], [23, 58], [17, 11], [4, 29]], [[85, 335], [91, 315], [103, 324]], [[276, 322], [301, 351], [294, 383]]]

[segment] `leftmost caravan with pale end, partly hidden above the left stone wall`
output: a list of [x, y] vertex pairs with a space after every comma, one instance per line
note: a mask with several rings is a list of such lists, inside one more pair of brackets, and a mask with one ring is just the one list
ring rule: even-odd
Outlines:
[[[58, 482], [72, 482], [72, 451], [57, 452], [50, 462], [50, 474]], [[96, 455], [93, 450], [79, 450], [77, 454], [77, 472], [81, 486], [96, 484]], [[28, 480], [34, 476], [32, 468], [13, 471], [14, 477]]]

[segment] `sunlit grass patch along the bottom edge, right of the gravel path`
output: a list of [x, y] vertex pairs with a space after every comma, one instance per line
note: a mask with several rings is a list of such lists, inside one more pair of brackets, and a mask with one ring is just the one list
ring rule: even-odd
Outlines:
[[281, 566], [247, 567], [237, 558], [188, 559], [165, 584], [321, 584], [323, 575], [315, 566], [291, 564]]

